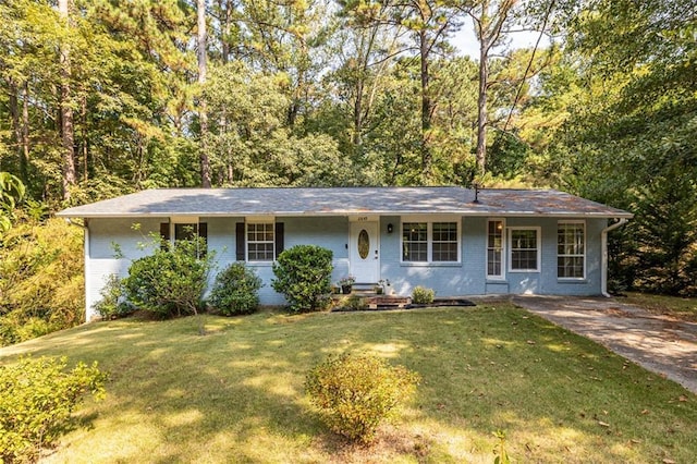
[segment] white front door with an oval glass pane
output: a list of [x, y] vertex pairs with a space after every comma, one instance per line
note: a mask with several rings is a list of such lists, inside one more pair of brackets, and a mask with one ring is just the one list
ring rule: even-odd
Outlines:
[[376, 283], [380, 278], [378, 221], [351, 222], [348, 260], [358, 283]]

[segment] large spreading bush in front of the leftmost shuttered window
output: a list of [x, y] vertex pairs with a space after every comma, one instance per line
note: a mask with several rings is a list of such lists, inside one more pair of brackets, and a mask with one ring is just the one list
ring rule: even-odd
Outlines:
[[160, 318], [198, 314], [213, 254], [201, 253], [206, 241], [194, 236], [175, 244], [152, 236], [155, 253], [136, 259], [123, 279], [127, 300]]

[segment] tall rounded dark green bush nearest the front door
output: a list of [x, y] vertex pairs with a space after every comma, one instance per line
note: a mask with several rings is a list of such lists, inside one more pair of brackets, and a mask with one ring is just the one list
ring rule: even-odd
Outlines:
[[296, 245], [281, 253], [273, 264], [276, 279], [271, 286], [285, 296], [294, 313], [327, 307], [331, 292], [330, 249], [315, 245]]

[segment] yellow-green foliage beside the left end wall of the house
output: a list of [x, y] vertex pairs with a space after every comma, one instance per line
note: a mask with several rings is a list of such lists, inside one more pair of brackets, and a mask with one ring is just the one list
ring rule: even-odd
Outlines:
[[83, 231], [25, 219], [0, 240], [0, 345], [84, 321]]

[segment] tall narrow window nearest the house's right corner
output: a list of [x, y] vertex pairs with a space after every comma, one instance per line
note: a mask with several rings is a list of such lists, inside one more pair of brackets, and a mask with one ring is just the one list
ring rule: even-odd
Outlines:
[[557, 228], [557, 276], [584, 279], [586, 271], [586, 224], [560, 222]]

